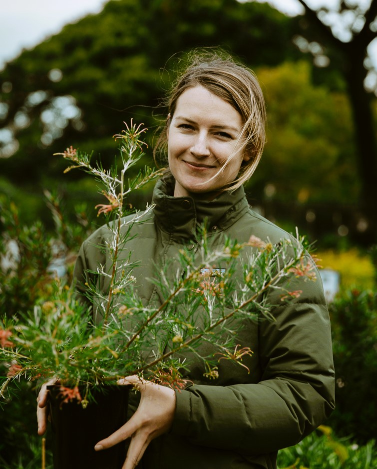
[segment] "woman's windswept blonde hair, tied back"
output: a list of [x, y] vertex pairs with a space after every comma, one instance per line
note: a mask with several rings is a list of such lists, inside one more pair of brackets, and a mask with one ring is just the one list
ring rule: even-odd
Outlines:
[[[254, 72], [229, 54], [220, 49], [194, 50], [188, 55], [184, 71], [176, 78], [166, 97], [165, 104], [171, 117], [179, 96], [195, 86], [206, 88], [241, 114], [244, 125], [239, 138], [242, 150], [250, 159], [242, 163], [238, 177], [226, 187], [226, 190], [235, 190], [251, 177], [262, 156], [266, 139], [266, 107], [262, 89]], [[155, 159], [157, 152], [166, 155], [168, 122], [155, 144]]]

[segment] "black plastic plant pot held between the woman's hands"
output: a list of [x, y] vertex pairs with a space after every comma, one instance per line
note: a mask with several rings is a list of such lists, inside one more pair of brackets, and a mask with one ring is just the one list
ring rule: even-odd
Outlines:
[[85, 408], [76, 399], [63, 402], [60, 385], [47, 389], [54, 469], [121, 469], [126, 457], [124, 441], [101, 451], [95, 451], [94, 445], [126, 422], [129, 387], [94, 389], [94, 401]]

